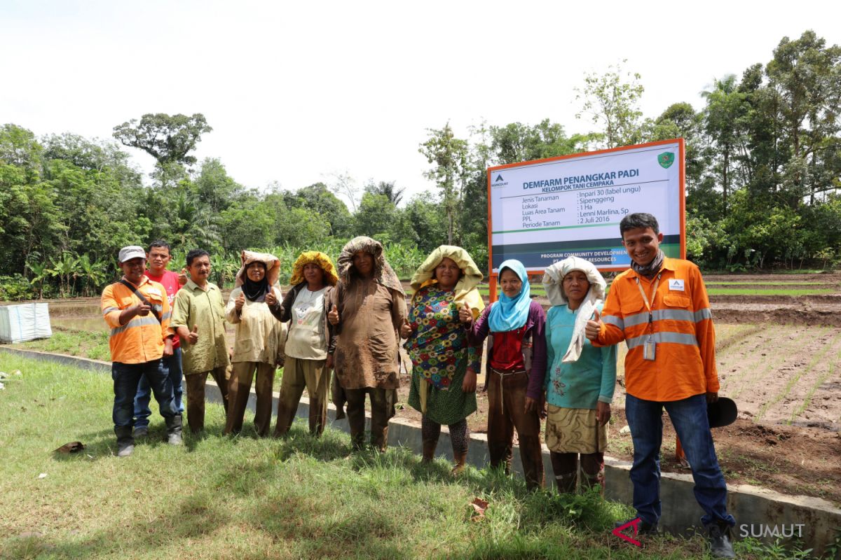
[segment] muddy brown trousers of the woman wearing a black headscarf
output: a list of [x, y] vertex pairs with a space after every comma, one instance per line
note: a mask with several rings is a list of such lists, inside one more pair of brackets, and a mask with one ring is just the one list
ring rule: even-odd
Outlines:
[[257, 393], [257, 411], [254, 414], [254, 427], [258, 436], [268, 435], [269, 427], [272, 426], [272, 384], [275, 369], [274, 365], [262, 362], [234, 362], [231, 365], [225, 433], [241, 432], [248, 398], [251, 396], [251, 381], [256, 373], [257, 383], [254, 390]]

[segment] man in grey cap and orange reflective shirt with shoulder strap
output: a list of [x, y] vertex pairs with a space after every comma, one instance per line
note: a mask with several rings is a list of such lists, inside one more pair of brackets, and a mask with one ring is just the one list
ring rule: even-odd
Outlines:
[[167, 423], [167, 440], [181, 445], [181, 413], [172, 398], [172, 383], [163, 365], [172, 356], [171, 315], [167, 290], [149, 280], [145, 271], [146, 254], [142, 247], [130, 245], [119, 250], [119, 268], [123, 277], [105, 286], [102, 311], [111, 327], [111, 377], [114, 379], [114, 433], [117, 455], [128, 457], [135, 450], [131, 428], [135, 394], [140, 378], [149, 380], [161, 416]]

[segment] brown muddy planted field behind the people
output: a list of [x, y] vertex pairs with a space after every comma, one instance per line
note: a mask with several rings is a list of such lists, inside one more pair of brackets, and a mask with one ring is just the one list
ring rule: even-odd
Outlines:
[[[721, 395], [739, 407], [738, 421], [716, 429], [714, 437], [728, 482], [841, 505], [841, 274], [709, 275], [705, 280], [710, 289], [820, 292], [711, 296]], [[56, 327], [104, 328], [97, 311], [95, 298], [50, 302]], [[620, 433], [626, 424], [624, 354], [622, 344], [609, 454], [630, 460], [631, 438]], [[408, 379], [405, 374], [403, 403]], [[398, 416], [420, 420], [408, 406]], [[687, 472], [674, 460], [674, 431], [668, 417], [664, 420], [663, 468]], [[479, 412], [468, 421], [473, 432], [485, 432], [487, 400], [481, 392]]]

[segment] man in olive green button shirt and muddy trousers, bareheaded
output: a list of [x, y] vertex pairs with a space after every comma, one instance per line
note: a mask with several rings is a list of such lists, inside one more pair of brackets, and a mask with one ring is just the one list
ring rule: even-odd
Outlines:
[[213, 375], [228, 411], [228, 345], [225, 343], [225, 301], [219, 286], [209, 282], [210, 255], [203, 249], [187, 254], [190, 280], [172, 303], [170, 326], [181, 338], [187, 424], [190, 432], [204, 430], [204, 385]]

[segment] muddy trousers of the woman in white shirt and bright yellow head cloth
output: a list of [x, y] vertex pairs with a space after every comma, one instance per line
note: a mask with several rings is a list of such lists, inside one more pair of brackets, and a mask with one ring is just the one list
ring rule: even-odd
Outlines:
[[327, 386], [330, 385], [330, 369], [325, 359], [298, 359], [286, 357], [283, 364], [283, 380], [278, 398], [278, 423], [274, 427], [275, 437], [289, 431], [298, 411], [304, 388], [309, 396], [309, 433], [319, 437], [327, 423]]

